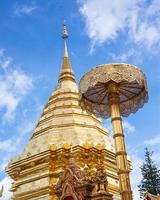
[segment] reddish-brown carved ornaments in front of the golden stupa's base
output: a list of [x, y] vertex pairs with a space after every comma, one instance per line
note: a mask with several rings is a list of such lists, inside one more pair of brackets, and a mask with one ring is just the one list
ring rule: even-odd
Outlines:
[[71, 158], [53, 188], [59, 200], [112, 200], [107, 186], [106, 172], [102, 165], [93, 173], [87, 166], [82, 170]]

